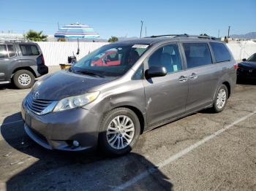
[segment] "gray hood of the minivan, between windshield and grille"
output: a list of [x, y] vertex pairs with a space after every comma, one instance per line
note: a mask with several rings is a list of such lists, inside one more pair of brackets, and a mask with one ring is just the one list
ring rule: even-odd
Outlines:
[[37, 87], [33, 87], [31, 92], [37, 92], [38, 99], [61, 100], [72, 95], [81, 95], [92, 87], [111, 80], [113, 79], [90, 77], [69, 71], [58, 71], [43, 78], [41, 83]]

